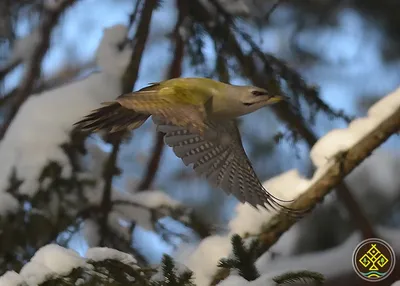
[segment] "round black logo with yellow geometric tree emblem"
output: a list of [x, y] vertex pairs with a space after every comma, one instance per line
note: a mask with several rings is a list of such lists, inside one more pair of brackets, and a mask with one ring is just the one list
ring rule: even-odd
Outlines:
[[396, 263], [393, 248], [384, 240], [370, 238], [357, 245], [353, 253], [353, 267], [358, 276], [378, 282], [392, 273]]

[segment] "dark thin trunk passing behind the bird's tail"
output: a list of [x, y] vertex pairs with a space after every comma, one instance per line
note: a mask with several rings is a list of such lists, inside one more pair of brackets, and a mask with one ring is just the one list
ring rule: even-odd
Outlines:
[[[148, 38], [151, 17], [153, 15], [153, 11], [154, 8], [156, 7], [156, 4], [157, 0], [146, 0], [144, 4], [143, 11], [140, 17], [140, 22], [134, 38], [135, 46], [132, 52], [128, 68], [125, 71], [122, 79], [123, 93], [130, 92], [133, 89], [136, 80], [138, 78], [140, 63]], [[109, 136], [113, 145], [113, 149], [104, 170], [105, 185], [101, 200], [103, 215], [99, 222], [100, 232], [101, 232], [100, 245], [105, 243], [105, 238], [108, 232], [108, 215], [112, 208], [112, 203], [111, 203], [112, 179], [116, 174], [116, 160], [119, 151], [119, 146], [123, 140], [123, 133], [114, 133]]]

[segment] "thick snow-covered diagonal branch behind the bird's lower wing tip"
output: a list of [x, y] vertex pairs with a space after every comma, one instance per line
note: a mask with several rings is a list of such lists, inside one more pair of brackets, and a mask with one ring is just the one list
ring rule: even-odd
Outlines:
[[[339, 184], [371, 152], [400, 129], [400, 89], [387, 95], [348, 128], [332, 130], [312, 148], [311, 158], [317, 170], [312, 179], [290, 170], [265, 183], [271, 193], [282, 199], [296, 199], [290, 207], [310, 209]], [[237, 233], [260, 241], [259, 254], [267, 251], [297, 220], [284, 214], [256, 210], [248, 204], [237, 206], [237, 215], [229, 223], [228, 236], [211, 236], [187, 257], [187, 265], [196, 273], [196, 281], [207, 284], [215, 274], [216, 263], [231, 252], [229, 236]], [[208, 263], [198, 261], [207, 260]], [[214, 276], [214, 284], [229, 275], [223, 269]]]

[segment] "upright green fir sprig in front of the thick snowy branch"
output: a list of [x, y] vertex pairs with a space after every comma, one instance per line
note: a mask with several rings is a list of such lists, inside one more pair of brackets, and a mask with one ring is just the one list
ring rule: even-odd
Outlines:
[[260, 276], [254, 264], [257, 260], [258, 242], [252, 240], [250, 246], [246, 247], [243, 239], [237, 234], [232, 236], [231, 242], [234, 257], [221, 259], [218, 267], [237, 269], [239, 275], [247, 281], [256, 280]]

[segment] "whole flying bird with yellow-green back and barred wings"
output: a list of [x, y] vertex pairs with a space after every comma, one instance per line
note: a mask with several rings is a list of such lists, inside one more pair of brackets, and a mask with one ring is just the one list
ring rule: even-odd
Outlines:
[[121, 95], [77, 124], [82, 130], [115, 132], [136, 129], [153, 116], [164, 142], [211, 184], [254, 207], [288, 211], [257, 178], [235, 121], [281, 99], [257, 87], [176, 78]]

